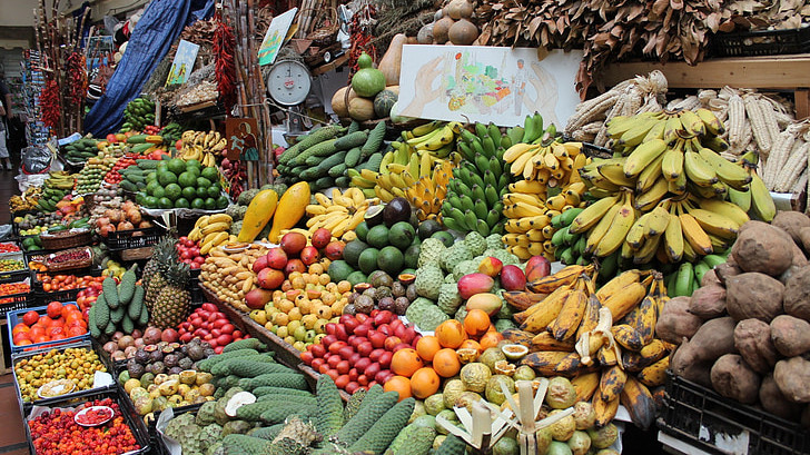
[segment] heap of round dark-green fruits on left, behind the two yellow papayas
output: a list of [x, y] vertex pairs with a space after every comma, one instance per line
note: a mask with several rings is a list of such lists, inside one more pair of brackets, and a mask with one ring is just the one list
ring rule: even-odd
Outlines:
[[[148, 208], [225, 209], [228, 197], [219, 186], [216, 167], [202, 167], [198, 160], [142, 160], [146, 186], [138, 192], [137, 202]], [[129, 169], [132, 169], [131, 167]], [[128, 175], [127, 175], [128, 176]]]

